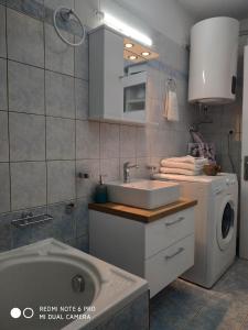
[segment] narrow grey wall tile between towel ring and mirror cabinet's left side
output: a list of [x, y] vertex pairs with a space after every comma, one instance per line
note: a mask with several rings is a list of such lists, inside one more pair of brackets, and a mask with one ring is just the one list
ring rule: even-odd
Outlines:
[[75, 48], [75, 77], [88, 80], [88, 36]]

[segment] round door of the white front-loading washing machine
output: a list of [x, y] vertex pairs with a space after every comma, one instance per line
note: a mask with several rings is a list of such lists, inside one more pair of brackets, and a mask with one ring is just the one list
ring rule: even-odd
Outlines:
[[220, 205], [217, 219], [217, 242], [220, 250], [226, 250], [235, 234], [235, 207], [230, 196]]

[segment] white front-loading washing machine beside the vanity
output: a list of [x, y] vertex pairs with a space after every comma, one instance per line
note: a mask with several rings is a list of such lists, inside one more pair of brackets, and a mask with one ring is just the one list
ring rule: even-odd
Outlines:
[[180, 183], [183, 198], [197, 199], [195, 261], [182, 278], [211, 288], [236, 255], [238, 182], [235, 174], [184, 176], [155, 174], [154, 179]]

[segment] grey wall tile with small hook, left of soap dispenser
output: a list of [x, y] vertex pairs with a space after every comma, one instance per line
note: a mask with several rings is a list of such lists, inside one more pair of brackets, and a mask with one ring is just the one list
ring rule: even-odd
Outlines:
[[[85, 160], [76, 162], [76, 194], [77, 198], [94, 199], [96, 185], [99, 183], [99, 160]], [[78, 178], [78, 173], [88, 174], [89, 178]]]

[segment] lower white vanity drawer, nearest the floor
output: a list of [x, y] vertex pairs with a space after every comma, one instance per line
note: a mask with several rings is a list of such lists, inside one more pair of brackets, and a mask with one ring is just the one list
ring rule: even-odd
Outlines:
[[153, 297], [193, 265], [194, 234], [147, 260], [144, 277], [149, 283], [150, 297]]

